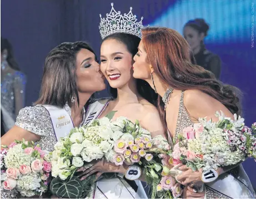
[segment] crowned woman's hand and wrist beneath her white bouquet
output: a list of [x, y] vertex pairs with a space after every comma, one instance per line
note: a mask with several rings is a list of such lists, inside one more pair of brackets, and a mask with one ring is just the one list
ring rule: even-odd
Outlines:
[[107, 162], [106, 159], [101, 159], [100, 161], [95, 162], [95, 164], [90, 167], [89, 169], [84, 170], [84, 167], [81, 167], [80, 169], [78, 169], [77, 171], [83, 171], [83, 173], [81, 175], [79, 175], [79, 177], [81, 177], [81, 181], [86, 179], [88, 176], [94, 174], [95, 172], [97, 172], [96, 174], [96, 180], [99, 178], [99, 176], [101, 176], [104, 172], [121, 172], [124, 173], [126, 171], [126, 169], [124, 169], [124, 167], [121, 166], [117, 166], [114, 163], [109, 163]]

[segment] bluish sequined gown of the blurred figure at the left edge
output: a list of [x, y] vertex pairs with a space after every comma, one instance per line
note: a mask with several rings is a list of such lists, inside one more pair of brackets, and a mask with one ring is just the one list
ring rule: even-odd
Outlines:
[[[13, 125], [16, 119], [16, 104], [20, 103], [19, 107], [24, 107], [25, 87], [26, 76], [20, 71], [16, 71], [13, 74], [8, 73], [1, 80], [1, 108], [2, 112], [4, 112], [3, 117], [5, 114], [8, 114], [8, 117], [11, 117], [13, 120]], [[7, 125], [7, 127], [4, 127], [4, 130], [7, 132], [9, 128], [11, 127]]]

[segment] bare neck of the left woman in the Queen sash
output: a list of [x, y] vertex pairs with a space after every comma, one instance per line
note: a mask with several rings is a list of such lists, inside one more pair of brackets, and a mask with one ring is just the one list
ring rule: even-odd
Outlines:
[[78, 118], [81, 118], [81, 113], [84, 105], [86, 105], [86, 102], [89, 100], [89, 98], [92, 96], [92, 93], [78, 93], [79, 96], [79, 106], [77, 101], [72, 103], [71, 105], [71, 117], [73, 121], [76, 121]]

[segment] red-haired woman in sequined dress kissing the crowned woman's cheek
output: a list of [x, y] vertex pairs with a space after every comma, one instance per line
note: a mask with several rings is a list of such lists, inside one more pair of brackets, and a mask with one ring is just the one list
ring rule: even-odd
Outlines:
[[[138, 53], [134, 56], [135, 78], [147, 81], [159, 94], [158, 108], [166, 121], [170, 142], [177, 141], [177, 134], [185, 127], [198, 123], [198, 118], [215, 117], [216, 111], [233, 118], [240, 114], [239, 90], [218, 81], [212, 72], [193, 65], [192, 54], [187, 41], [175, 30], [147, 27], [142, 30]], [[219, 177], [205, 184], [205, 191], [186, 187], [183, 197], [207, 198], [253, 198], [253, 188], [242, 165], [235, 172], [230, 168], [219, 168]], [[201, 181], [202, 171], [192, 171], [187, 166], [179, 167], [182, 174], [176, 179], [185, 186], [193, 187]], [[233, 171], [233, 170], [232, 170]], [[222, 175], [220, 175], [222, 174]], [[187, 191], [190, 190], [190, 191]]]

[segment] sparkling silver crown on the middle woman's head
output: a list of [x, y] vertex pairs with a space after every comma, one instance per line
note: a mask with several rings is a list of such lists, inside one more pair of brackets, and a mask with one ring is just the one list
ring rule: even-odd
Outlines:
[[104, 39], [106, 36], [109, 36], [114, 33], [127, 33], [138, 36], [142, 38], [141, 29], [142, 19], [140, 22], [137, 22], [136, 15], [132, 13], [132, 7], [130, 7], [130, 12], [128, 14], [122, 15], [120, 11], [116, 11], [113, 6], [114, 3], [111, 3], [112, 9], [109, 14], [106, 14], [106, 19], [101, 17], [101, 23], [99, 23], [99, 33], [101, 33], [101, 38]]

